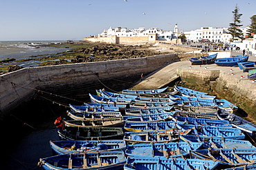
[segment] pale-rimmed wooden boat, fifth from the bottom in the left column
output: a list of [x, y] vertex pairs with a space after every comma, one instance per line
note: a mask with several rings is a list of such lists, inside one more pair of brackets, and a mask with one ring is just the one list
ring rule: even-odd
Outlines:
[[121, 117], [120, 112], [100, 112], [100, 113], [88, 113], [88, 112], [67, 112], [68, 116], [73, 120], [89, 120], [89, 119], [107, 119], [113, 117]]

